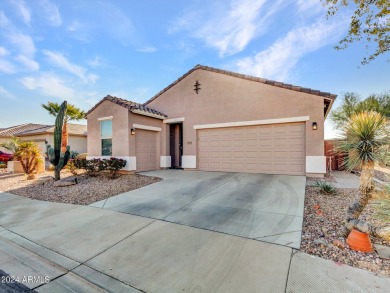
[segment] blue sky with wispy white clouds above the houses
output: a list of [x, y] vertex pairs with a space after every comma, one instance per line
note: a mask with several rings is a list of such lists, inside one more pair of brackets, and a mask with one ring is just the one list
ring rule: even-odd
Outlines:
[[339, 96], [389, 90], [387, 56], [360, 66], [362, 44], [333, 48], [351, 12], [325, 13], [319, 0], [0, 0], [0, 127], [53, 124], [47, 101], [144, 102], [196, 64]]

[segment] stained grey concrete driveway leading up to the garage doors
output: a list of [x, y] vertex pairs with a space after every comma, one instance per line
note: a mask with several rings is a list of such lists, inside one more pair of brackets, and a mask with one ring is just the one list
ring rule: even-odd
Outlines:
[[299, 249], [304, 176], [161, 170], [164, 180], [91, 206]]

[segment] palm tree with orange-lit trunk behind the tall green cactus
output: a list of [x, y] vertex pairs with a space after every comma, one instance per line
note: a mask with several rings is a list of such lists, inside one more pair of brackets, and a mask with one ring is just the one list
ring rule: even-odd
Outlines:
[[[57, 116], [60, 110], [60, 104], [54, 102], [47, 102], [42, 104], [42, 108], [47, 110], [50, 115]], [[71, 120], [81, 120], [85, 118], [85, 112], [75, 107], [72, 104], [68, 104], [66, 115], [64, 117], [64, 127], [62, 129], [62, 144], [61, 150], [65, 152], [66, 146], [68, 145], [68, 122]]]

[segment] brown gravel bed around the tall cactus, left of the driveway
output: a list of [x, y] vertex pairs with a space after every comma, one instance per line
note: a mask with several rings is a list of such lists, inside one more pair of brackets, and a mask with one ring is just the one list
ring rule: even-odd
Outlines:
[[118, 174], [111, 179], [108, 174], [88, 177], [85, 174], [74, 176], [67, 170], [61, 178], [77, 177], [78, 184], [54, 187], [53, 172], [43, 172], [34, 180], [26, 180], [23, 174], [0, 173], [0, 192], [8, 192], [32, 199], [89, 205], [111, 196], [159, 182], [162, 179], [139, 174]]

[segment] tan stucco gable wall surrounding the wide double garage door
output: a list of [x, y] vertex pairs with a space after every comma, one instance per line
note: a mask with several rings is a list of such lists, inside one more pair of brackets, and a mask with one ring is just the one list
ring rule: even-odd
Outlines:
[[[194, 91], [197, 80], [199, 94]], [[168, 118], [185, 117], [184, 156], [197, 155], [194, 125], [299, 116], [310, 117], [306, 121], [306, 156], [324, 155], [324, 102], [320, 96], [196, 70], [147, 106]], [[313, 122], [317, 122], [317, 130], [312, 130]], [[169, 155], [169, 148], [162, 148], [161, 155]]]

